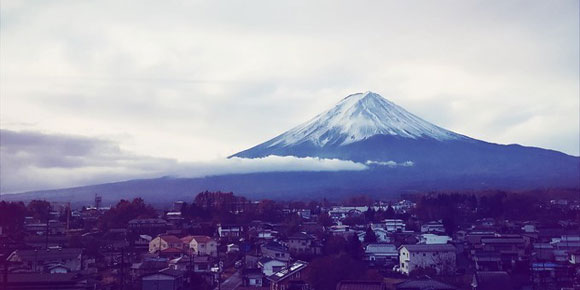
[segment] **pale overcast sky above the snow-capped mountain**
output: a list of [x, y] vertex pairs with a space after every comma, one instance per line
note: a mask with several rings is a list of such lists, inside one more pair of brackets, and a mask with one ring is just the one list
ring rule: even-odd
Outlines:
[[[0, 140], [0, 190], [124, 170], [95, 151], [56, 162], [68, 151], [38, 142], [85, 140], [145, 176], [221, 160], [368, 90], [470, 137], [579, 155], [577, 0], [287, 2], [2, 1], [0, 128], [37, 143]], [[109, 175], [65, 180], [79, 167]]]

